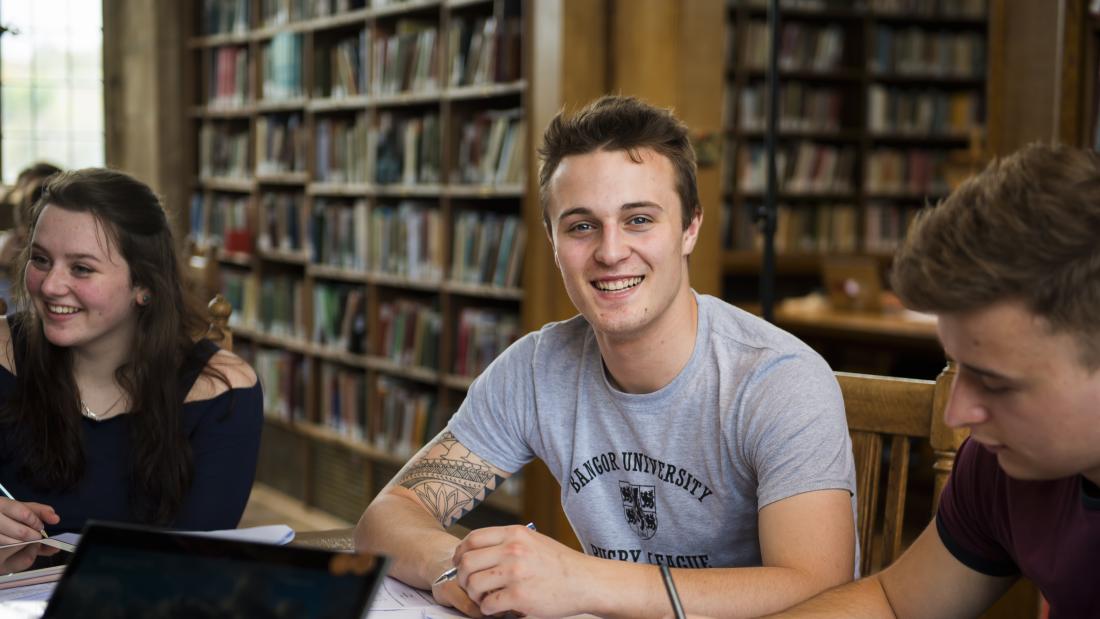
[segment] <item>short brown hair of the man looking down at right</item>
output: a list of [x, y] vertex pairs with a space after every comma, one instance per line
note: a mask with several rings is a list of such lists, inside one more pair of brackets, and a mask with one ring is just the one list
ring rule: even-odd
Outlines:
[[917, 217], [892, 281], [935, 313], [1022, 301], [1080, 335], [1084, 365], [1100, 368], [1100, 157], [1032, 144], [994, 159]]

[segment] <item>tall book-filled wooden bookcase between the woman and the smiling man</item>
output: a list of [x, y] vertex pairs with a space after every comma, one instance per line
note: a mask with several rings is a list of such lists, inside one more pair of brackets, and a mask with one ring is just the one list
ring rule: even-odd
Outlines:
[[[530, 16], [521, 0], [191, 11], [189, 239], [264, 384], [257, 480], [355, 521], [532, 327]], [[522, 477], [477, 523], [520, 519]]]

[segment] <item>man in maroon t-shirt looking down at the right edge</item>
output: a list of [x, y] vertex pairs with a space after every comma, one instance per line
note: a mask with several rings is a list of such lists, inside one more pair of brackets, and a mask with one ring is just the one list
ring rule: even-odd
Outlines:
[[895, 257], [939, 316], [970, 430], [935, 522], [881, 574], [783, 617], [975, 617], [1021, 575], [1100, 616], [1100, 158], [1032, 145], [924, 213]]

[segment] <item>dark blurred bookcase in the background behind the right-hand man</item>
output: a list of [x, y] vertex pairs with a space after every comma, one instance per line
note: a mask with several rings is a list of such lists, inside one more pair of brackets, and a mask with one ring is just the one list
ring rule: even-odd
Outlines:
[[[767, 3], [726, 11], [723, 295], [757, 301], [765, 200]], [[781, 1], [777, 294], [825, 256], [888, 263], [916, 209], [949, 190], [989, 117], [986, 0]]]

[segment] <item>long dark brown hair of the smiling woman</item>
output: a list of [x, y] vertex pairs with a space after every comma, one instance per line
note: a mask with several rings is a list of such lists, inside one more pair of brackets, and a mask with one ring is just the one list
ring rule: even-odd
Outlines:
[[[184, 434], [180, 368], [206, 320], [186, 294], [168, 218], [156, 195], [119, 172], [87, 168], [58, 174], [43, 188], [31, 213], [31, 234], [46, 206], [89, 212], [130, 266], [132, 286], [148, 290], [138, 306], [130, 361], [116, 379], [130, 397], [131, 510], [144, 522], [167, 524], [191, 483], [191, 451]], [[26, 338], [19, 351], [18, 389], [0, 408], [4, 432], [24, 445], [20, 474], [44, 490], [64, 490], [84, 475], [80, 396], [68, 349], [46, 340], [30, 302], [25, 273], [30, 247], [19, 264], [16, 320]], [[226, 377], [212, 373], [223, 382]]]

